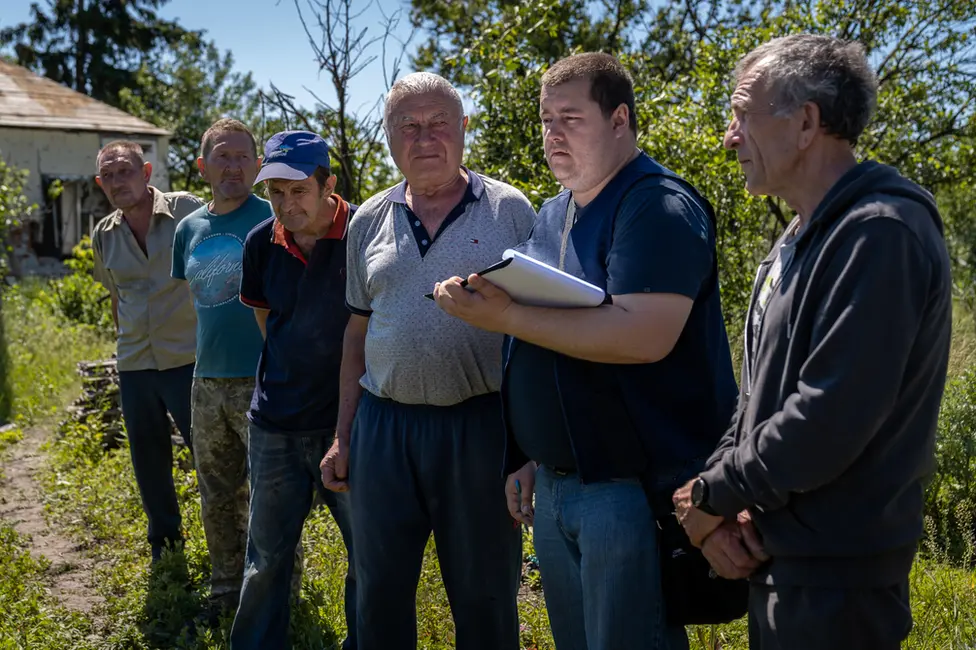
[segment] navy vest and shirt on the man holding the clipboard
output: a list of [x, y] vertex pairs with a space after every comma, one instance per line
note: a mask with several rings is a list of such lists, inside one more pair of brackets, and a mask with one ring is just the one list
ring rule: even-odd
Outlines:
[[[570, 200], [563, 192], [543, 205], [526, 254], [558, 264]], [[640, 155], [577, 210], [565, 263], [611, 295], [668, 293], [694, 303], [656, 363], [595, 363], [511, 340], [502, 389], [507, 470], [531, 458], [577, 469], [586, 482], [670, 480], [703, 462], [737, 394], [707, 202]]]

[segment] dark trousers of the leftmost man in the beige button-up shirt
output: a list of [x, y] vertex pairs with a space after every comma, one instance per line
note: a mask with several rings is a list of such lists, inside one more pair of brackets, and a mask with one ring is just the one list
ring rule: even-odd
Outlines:
[[129, 438], [142, 507], [149, 519], [149, 543], [158, 558], [164, 546], [183, 539], [180, 507], [173, 486], [172, 414], [187, 447], [190, 444], [190, 389], [193, 365], [168, 370], [119, 373], [122, 418]]

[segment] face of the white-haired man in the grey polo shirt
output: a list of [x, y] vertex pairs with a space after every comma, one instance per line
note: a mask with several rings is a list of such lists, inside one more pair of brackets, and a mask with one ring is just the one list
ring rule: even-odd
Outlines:
[[464, 152], [468, 118], [442, 93], [408, 95], [390, 113], [387, 136], [397, 168], [415, 186], [454, 180]]

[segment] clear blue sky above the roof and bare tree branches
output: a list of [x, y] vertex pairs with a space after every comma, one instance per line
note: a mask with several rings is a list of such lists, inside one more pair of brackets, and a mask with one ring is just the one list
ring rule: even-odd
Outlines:
[[[43, 0], [39, 2], [45, 4]], [[299, 2], [308, 17], [307, 1]], [[30, 0], [2, 0], [2, 4], [0, 27], [30, 18]], [[410, 36], [407, 3], [401, 0], [354, 0], [353, 7], [365, 8], [354, 24], [359, 29], [368, 29], [367, 38], [381, 33], [384, 12], [390, 15], [398, 9], [401, 18], [396, 35], [400, 39]], [[263, 88], [273, 81], [305, 106], [311, 106], [314, 99], [304, 88], [326, 101], [335, 98], [328, 77], [319, 74], [294, 0], [171, 0], [159, 13], [164, 18], [178, 20], [189, 29], [205, 29], [207, 36], [221, 50], [233, 53], [237, 69], [251, 72]], [[421, 41], [421, 34], [415, 36], [411, 51]], [[395, 43], [392, 45], [399, 49]], [[372, 54], [381, 56], [379, 43], [371, 49]], [[412, 70], [405, 59], [401, 75], [409, 72]], [[383, 69], [377, 60], [353, 80], [350, 87], [352, 109], [355, 112], [369, 110], [385, 91]]]

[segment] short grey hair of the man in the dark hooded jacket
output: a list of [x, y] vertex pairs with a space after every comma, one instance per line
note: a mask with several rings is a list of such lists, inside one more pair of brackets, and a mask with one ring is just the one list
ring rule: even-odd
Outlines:
[[857, 144], [878, 102], [878, 80], [864, 47], [830, 36], [773, 39], [739, 61], [735, 79], [747, 73], [764, 78], [776, 114], [813, 102], [827, 133], [851, 144]]

